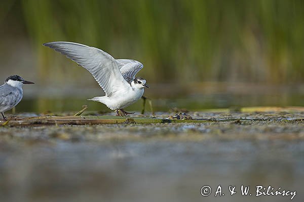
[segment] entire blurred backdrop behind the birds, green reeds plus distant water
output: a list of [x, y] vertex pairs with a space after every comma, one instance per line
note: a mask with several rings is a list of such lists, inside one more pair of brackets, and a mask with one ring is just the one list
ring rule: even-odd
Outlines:
[[303, 106], [303, 1], [7, 0], [0, 9], [0, 80], [36, 82], [17, 111], [106, 110], [86, 102], [103, 93], [90, 73], [49, 41], [140, 61], [156, 110]]

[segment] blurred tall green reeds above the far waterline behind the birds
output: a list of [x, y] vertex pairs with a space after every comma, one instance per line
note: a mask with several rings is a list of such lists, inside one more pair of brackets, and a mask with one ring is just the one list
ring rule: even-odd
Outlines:
[[41, 82], [83, 74], [42, 46], [56, 40], [138, 60], [149, 83], [304, 80], [304, 1], [9, 0], [2, 10], [0, 25], [13, 17], [30, 41]]

